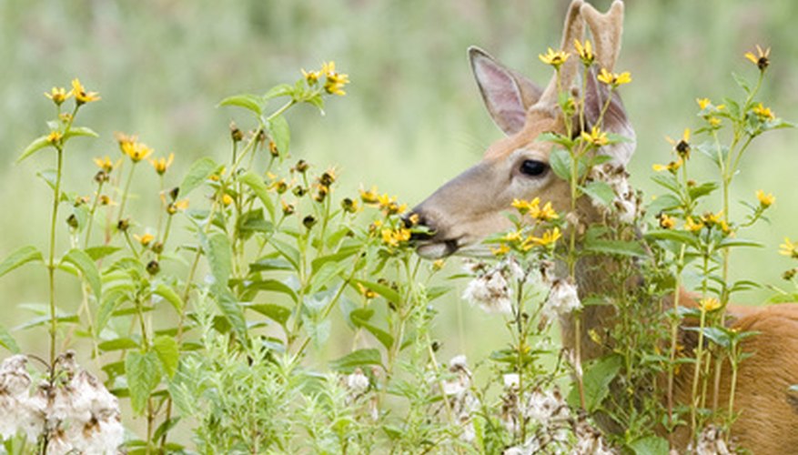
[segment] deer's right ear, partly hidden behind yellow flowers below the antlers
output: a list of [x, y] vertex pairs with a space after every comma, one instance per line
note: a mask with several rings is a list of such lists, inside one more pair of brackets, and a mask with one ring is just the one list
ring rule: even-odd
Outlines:
[[601, 108], [607, 102], [607, 98], [611, 96], [610, 105], [607, 106], [607, 111], [604, 112], [601, 121], [601, 130], [623, 136], [626, 140], [601, 147], [601, 154], [612, 157], [614, 164], [626, 167], [637, 146], [637, 139], [629, 117], [626, 116], [626, 109], [623, 107], [618, 90], [611, 92], [607, 86], [599, 83], [596, 79], [595, 66], [591, 66], [591, 70], [588, 72], [585, 89], [585, 123], [588, 128], [596, 125], [601, 115]]

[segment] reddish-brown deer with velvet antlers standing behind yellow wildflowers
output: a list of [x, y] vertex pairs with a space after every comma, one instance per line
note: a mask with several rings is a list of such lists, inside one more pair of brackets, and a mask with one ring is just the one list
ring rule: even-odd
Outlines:
[[[612, 71], [621, 50], [623, 11], [621, 0], [615, 0], [606, 13], [598, 12], [583, 0], [572, 0], [560, 48], [573, 54], [574, 40], [582, 39], [589, 28], [598, 66]], [[538, 140], [543, 133], [563, 134], [565, 131], [565, 121], [558, 108], [556, 75], [547, 86], [541, 87], [480, 48], [470, 47], [469, 58], [484, 105], [505, 136], [487, 148], [479, 163], [439, 187], [409, 212], [428, 232], [414, 238], [416, 251], [423, 258], [444, 258], [467, 252], [479, 245], [481, 239], [509, 229], [512, 225], [505, 214], [513, 199], [540, 197], [540, 200], [551, 201], [558, 212], [570, 209], [569, 184], [551, 171], [553, 144]], [[561, 89], [579, 90], [574, 84], [578, 76], [577, 60], [571, 58], [561, 67]], [[586, 86], [585, 127], [589, 128], [596, 122], [599, 107], [608, 94], [595, 82], [588, 81]], [[617, 91], [609, 96], [611, 100], [601, 128], [630, 140], [601, 147], [598, 153], [610, 157], [614, 165], [626, 167], [635, 149], [635, 132]], [[587, 201], [578, 201], [577, 211], [579, 219], [585, 223], [601, 221]], [[601, 291], [601, 276], [580, 276], [579, 273], [577, 269], [581, 297]], [[684, 289], [677, 292], [681, 306], [697, 308], [697, 298], [691, 293]], [[742, 349], [753, 356], [743, 360], [738, 371], [734, 410], [739, 412], [739, 417], [732, 424], [732, 438], [754, 453], [798, 452], [798, 392], [790, 389], [798, 383], [798, 304], [763, 308], [729, 305], [727, 315], [732, 329], [757, 332], [756, 336], [742, 341]], [[613, 317], [611, 306], [584, 308], [581, 345], [586, 348], [581, 350], [582, 362], [606, 353], [606, 349], [591, 343], [587, 334], [593, 328], [610, 324]], [[682, 326], [689, 324], [682, 320]], [[574, 345], [571, 325], [570, 318], [561, 319], [565, 349], [572, 349]], [[719, 389], [715, 390], [722, 400], [726, 399], [721, 402], [728, 402], [729, 377], [728, 365], [724, 365]], [[675, 380], [672, 399], [676, 403], [690, 402], [689, 382]], [[667, 436], [672, 449], [680, 451], [686, 450], [692, 440], [692, 434], [683, 426]]]

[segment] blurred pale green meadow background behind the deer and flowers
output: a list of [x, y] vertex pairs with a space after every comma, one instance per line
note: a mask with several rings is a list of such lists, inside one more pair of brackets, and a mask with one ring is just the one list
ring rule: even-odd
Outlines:
[[[594, 3], [601, 9], [609, 5]], [[309, 106], [288, 114], [292, 159], [337, 166], [338, 191], [376, 184], [412, 205], [476, 162], [500, 137], [482, 108], [466, 48], [480, 45], [546, 81], [550, 68], [537, 55], [559, 41], [567, 5], [564, 0], [0, 0], [0, 257], [24, 244], [46, 246], [51, 193], [35, 173], [52, 167], [54, 158], [40, 153], [21, 165], [15, 158], [45, 132], [53, 108], [42, 93], [51, 86], [68, 86], [79, 76], [103, 98], [87, 107], [79, 122], [101, 137], [76, 140], [70, 146], [77, 147], [68, 149], [76, 157], [68, 161], [66, 187], [88, 194], [96, 170], [91, 158], [117, 157], [114, 131], [138, 134], [159, 155], [175, 153], [177, 172], [171, 174], [177, 184], [195, 158], [227, 159], [227, 125], [237, 112], [215, 107], [219, 100], [262, 93], [294, 81], [299, 68], [335, 60], [351, 78], [348, 95], [330, 100], [327, 116]], [[618, 69], [631, 71], [634, 80], [621, 93], [638, 133], [631, 165], [636, 187], [653, 194], [652, 163], [670, 160], [663, 136], [680, 136], [685, 126], [699, 125], [696, 97], [720, 102], [721, 96], [736, 96], [732, 71], [755, 77], [755, 67], [742, 58], [755, 44], [773, 47], [765, 104], [778, 116], [798, 119], [796, 21], [793, 0], [627, 2]], [[766, 248], [735, 252], [734, 277], [779, 284], [789, 266], [776, 250], [783, 237], [798, 238], [796, 141], [794, 130], [769, 133], [745, 158], [733, 199], [753, 201], [762, 188], [778, 201], [772, 223], [747, 236]], [[148, 174], [139, 174], [138, 191], [157, 185]], [[742, 207], [735, 210], [742, 213]], [[17, 303], [45, 301], [44, 284], [45, 272], [35, 268], [0, 279], [6, 327], [29, 317]], [[738, 298], [757, 303], [769, 295], [763, 289]], [[482, 357], [495, 346], [464, 339], [490, 333], [501, 321], [485, 318], [457, 297], [455, 292], [441, 305], [438, 336], [447, 354], [464, 350]]]

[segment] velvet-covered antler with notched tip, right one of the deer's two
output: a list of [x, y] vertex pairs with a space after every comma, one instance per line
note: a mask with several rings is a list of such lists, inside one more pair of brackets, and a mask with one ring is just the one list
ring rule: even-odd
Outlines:
[[599, 67], [612, 71], [618, 60], [618, 54], [621, 52], [623, 2], [615, 0], [612, 2], [610, 10], [604, 14], [596, 11], [592, 5], [582, 4], [580, 13], [591, 28]]

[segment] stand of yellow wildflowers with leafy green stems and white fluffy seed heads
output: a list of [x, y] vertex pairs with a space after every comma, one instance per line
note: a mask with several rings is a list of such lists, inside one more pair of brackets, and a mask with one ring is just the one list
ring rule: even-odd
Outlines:
[[[292, 155], [288, 112], [346, 95], [334, 63], [223, 99], [247, 115], [230, 124], [229, 150], [179, 178], [178, 151], [127, 133], [114, 135], [119, 155], [81, 157], [72, 140], [98, 135], [76, 120], [101, 97], [77, 79], [46, 92], [54, 119], [19, 158], [55, 156], [40, 174], [53, 192], [46, 248], [16, 249], [0, 277], [44, 268], [47, 304], [29, 307], [37, 318], [21, 329], [45, 330], [48, 354], [23, 353], [0, 326], [13, 354], [0, 363], [5, 451], [648, 453], [684, 430], [693, 447], [732, 447], [733, 385], [728, 402], [712, 390], [722, 365], [733, 384], [753, 354], [741, 342], [755, 334], [724, 320], [732, 296], [756, 285], [730, 282], [731, 251], [757, 245], [741, 236], [775, 203], [765, 188], [737, 215], [732, 179], [754, 138], [790, 126], [757, 98], [769, 50], [745, 56], [759, 77], [735, 76], [742, 101], [698, 100], [699, 126], [670, 141], [670, 163], [654, 167], [664, 193], [643, 207], [602, 153], [629, 140], [603, 118], [631, 75], [599, 67], [590, 41], [572, 49], [540, 56], [557, 75], [569, 58], [582, 69], [581, 95], [558, 84], [565, 131], [540, 136], [568, 184], [564, 209], [514, 200], [510, 230], [485, 242], [490, 254], [449, 277], [468, 278], [462, 299], [505, 322], [500, 347], [476, 361], [439, 359], [435, 305], [451, 286], [442, 260], [415, 255], [414, 239], [430, 235], [419, 216], [377, 187], [339, 194], [338, 169]], [[590, 124], [589, 85], [605, 95]], [[702, 156], [718, 169], [705, 182], [692, 175]], [[67, 189], [79, 160], [96, 174]], [[128, 204], [144, 178], [155, 189]], [[602, 223], [581, 219], [586, 211]], [[780, 252], [798, 258], [789, 238]], [[796, 269], [783, 278], [794, 284]], [[76, 306], [62, 272], [80, 283]], [[689, 272], [695, 308], [680, 300]], [[586, 291], [585, 274], [601, 288]], [[774, 300], [796, 295], [779, 289]], [[611, 325], [585, 328], [608, 314]], [[330, 348], [337, 338], [348, 348]], [[675, 405], [676, 379], [691, 385], [688, 406]]]

